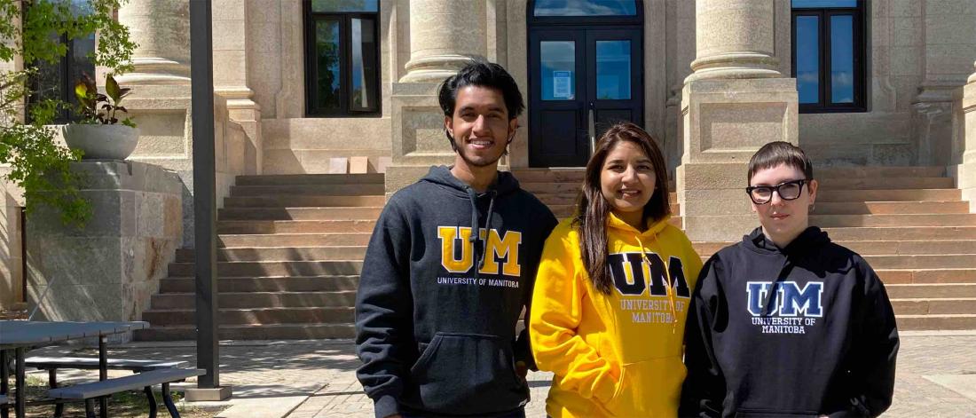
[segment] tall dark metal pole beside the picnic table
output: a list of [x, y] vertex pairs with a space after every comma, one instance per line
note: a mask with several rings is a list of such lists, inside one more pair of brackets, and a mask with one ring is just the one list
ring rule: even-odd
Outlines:
[[197, 387], [221, 386], [217, 336], [217, 244], [214, 222], [214, 56], [210, 0], [190, 0], [190, 78], [193, 108], [193, 225], [196, 262]]

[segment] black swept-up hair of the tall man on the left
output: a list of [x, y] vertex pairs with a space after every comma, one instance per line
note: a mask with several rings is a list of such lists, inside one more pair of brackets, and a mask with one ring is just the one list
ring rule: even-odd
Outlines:
[[[440, 84], [437, 101], [440, 103], [441, 110], [444, 110], [444, 116], [454, 116], [454, 106], [457, 104], [458, 91], [468, 86], [488, 87], [502, 92], [509, 121], [518, 117], [518, 115], [522, 114], [522, 110], [525, 109], [525, 102], [522, 101], [522, 93], [518, 91], [518, 84], [515, 83], [515, 79], [511, 78], [511, 74], [508, 74], [508, 71], [502, 65], [475, 61], [468, 63], [457, 74], [447, 77]], [[454, 144], [454, 138], [451, 138], [451, 133], [444, 130], [444, 135], [451, 142], [451, 147], [457, 150]]]

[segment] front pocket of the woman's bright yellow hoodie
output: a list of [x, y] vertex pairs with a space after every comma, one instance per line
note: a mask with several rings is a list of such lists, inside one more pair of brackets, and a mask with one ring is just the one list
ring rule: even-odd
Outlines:
[[625, 364], [616, 393], [603, 406], [610, 415], [619, 417], [676, 416], [686, 374], [680, 357]]

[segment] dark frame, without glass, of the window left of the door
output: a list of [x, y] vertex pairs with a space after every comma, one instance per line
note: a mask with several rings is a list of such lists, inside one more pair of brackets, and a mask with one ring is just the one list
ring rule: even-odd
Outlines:
[[[382, 3], [382, 2], [381, 2]], [[303, 0], [305, 32], [305, 117], [381, 117], [383, 115], [383, 94], [380, 91], [383, 78], [380, 48], [380, 12], [312, 12], [311, 0]], [[382, 7], [382, 4], [380, 5]], [[373, 43], [375, 44], [376, 76], [367, 83], [376, 92], [376, 104], [367, 110], [352, 108], [352, 20], [373, 21]], [[339, 98], [338, 109], [316, 106], [318, 71], [315, 63], [315, 23], [318, 21], [339, 22]], [[364, 50], [365, 51], [365, 50]]]

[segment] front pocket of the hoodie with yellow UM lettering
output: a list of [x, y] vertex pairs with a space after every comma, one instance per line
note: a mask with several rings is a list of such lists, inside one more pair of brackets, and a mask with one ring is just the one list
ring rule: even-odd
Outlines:
[[479, 414], [525, 402], [511, 343], [494, 335], [438, 332], [410, 368], [420, 402], [431, 412]]

